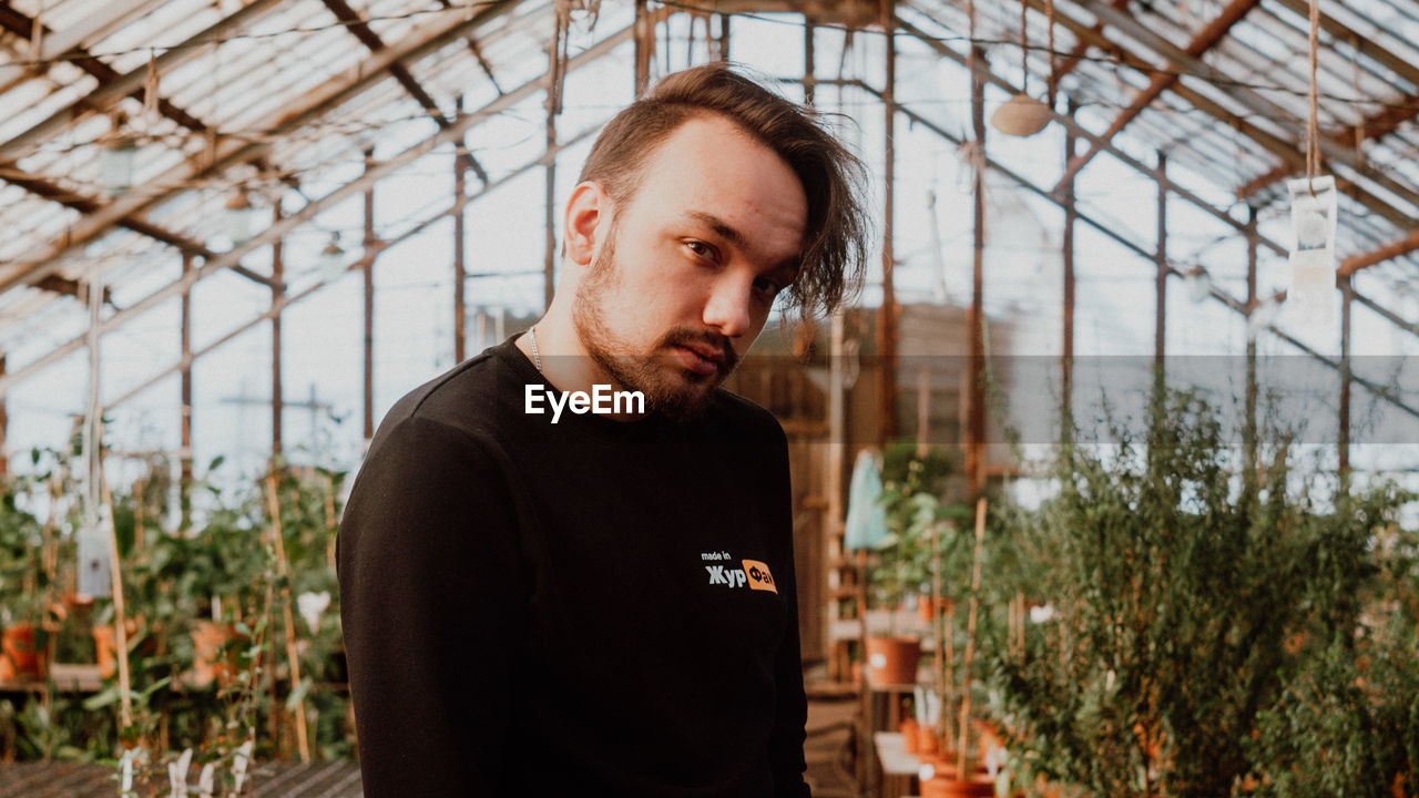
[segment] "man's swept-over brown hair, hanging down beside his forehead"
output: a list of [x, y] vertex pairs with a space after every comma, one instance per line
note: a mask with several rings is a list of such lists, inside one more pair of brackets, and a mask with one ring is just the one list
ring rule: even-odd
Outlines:
[[832, 312], [857, 291], [867, 253], [867, 217], [858, 199], [866, 169], [819, 122], [819, 114], [773, 94], [725, 64], [667, 75], [606, 125], [579, 180], [612, 202], [634, 196], [651, 152], [683, 122], [719, 114], [782, 158], [807, 195], [807, 226], [789, 307], [803, 317]]

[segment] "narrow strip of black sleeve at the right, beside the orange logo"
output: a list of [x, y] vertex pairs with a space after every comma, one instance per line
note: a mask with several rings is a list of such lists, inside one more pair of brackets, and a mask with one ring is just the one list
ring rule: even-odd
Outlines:
[[805, 724], [807, 723], [807, 696], [803, 692], [803, 655], [799, 642], [797, 621], [797, 578], [793, 571], [793, 486], [789, 479], [788, 439], [783, 429], [773, 422], [772, 437], [775, 450], [773, 461], [778, 463], [778, 473], [771, 484], [772, 501], [778, 503], [773, 513], [776, 530], [780, 535], [779, 544], [783, 552], [779, 558], [775, 582], [786, 594], [789, 603], [788, 628], [783, 630], [783, 642], [773, 663], [775, 679], [778, 682], [778, 707], [773, 718], [773, 731], [769, 736], [769, 763], [773, 768], [773, 795], [776, 798], [806, 798], [807, 784], [803, 772], [807, 763], [803, 758], [803, 741], [806, 738]]

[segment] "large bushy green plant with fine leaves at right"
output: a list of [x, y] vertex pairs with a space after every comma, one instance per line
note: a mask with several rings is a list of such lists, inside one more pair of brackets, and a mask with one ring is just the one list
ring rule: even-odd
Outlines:
[[[1344, 657], [1287, 643], [1351, 635], [1376, 574], [1375, 532], [1402, 497], [1341, 493], [1334, 511], [1317, 510], [1294, 488], [1313, 474], [1294, 469], [1276, 430], [1259, 443], [1264, 466], [1239, 477], [1216, 413], [1191, 393], [1156, 393], [1148, 420], [1144, 440], [1114, 429], [1111, 453], [1067, 440], [1051, 470], [1059, 494], [1007, 514], [1023, 561], [1047, 564], [1020, 584], [1057, 612], [1029, 626], [1023, 650], [996, 649], [1025, 764], [1097, 795], [1210, 797], [1284, 767], [1267, 757], [1317, 753], [1327, 734], [1359, 745], [1357, 730], [1327, 731], [1349, 723], [1331, 717], [1330, 699], [1307, 704], [1327, 707], [1310, 716], [1315, 744], [1281, 744], [1300, 733], [1280, 731], [1300, 720], [1287, 696], [1313, 684], [1344, 703], [1344, 677], [1328, 672]], [[1271, 728], [1269, 743], [1249, 744], [1259, 728]]]

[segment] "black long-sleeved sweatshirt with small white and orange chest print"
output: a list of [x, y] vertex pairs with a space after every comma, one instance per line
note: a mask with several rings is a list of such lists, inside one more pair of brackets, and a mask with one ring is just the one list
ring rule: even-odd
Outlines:
[[[369, 798], [807, 795], [788, 446], [525, 413], [512, 339], [404, 396], [339, 531]], [[543, 409], [546, 402], [542, 402]]]

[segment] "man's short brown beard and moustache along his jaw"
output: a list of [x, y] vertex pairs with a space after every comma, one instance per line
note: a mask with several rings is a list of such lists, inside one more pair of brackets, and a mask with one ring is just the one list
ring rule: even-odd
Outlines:
[[[674, 327], [650, 348], [637, 352], [617, 335], [606, 319], [606, 301], [620, 287], [620, 270], [614, 257], [614, 226], [606, 248], [596, 257], [586, 277], [576, 288], [572, 302], [572, 327], [592, 361], [614, 379], [623, 390], [639, 390], [646, 396], [646, 409], [664, 413], [675, 420], [690, 420], [704, 415], [715, 388], [734, 366], [738, 356], [729, 339], [711, 331]], [[701, 345], [721, 352], [724, 359], [714, 373], [702, 375], [678, 365], [656, 361], [656, 355], [675, 346]]]

